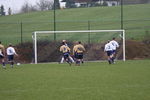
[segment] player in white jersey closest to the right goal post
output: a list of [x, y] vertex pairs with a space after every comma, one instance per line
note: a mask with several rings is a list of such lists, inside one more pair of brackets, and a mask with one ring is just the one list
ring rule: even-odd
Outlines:
[[115, 56], [116, 56], [116, 49], [119, 48], [119, 44], [115, 40], [115, 37], [113, 37], [113, 39], [110, 41], [110, 43], [112, 44], [112, 49], [113, 49], [112, 61], [114, 62], [114, 59], [115, 59]]

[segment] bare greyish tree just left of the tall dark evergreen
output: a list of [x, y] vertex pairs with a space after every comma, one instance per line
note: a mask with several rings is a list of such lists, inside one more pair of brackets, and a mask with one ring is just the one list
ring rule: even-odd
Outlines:
[[52, 9], [53, 2], [51, 0], [40, 0], [36, 3], [41, 11]]

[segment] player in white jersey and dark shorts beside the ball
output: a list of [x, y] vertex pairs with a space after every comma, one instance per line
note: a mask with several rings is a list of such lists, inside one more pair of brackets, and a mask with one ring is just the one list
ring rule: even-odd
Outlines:
[[18, 54], [16, 53], [14, 47], [12, 46], [12, 44], [10, 43], [8, 48], [7, 48], [7, 57], [8, 57], [8, 62], [11, 65], [11, 68], [13, 68], [14, 65], [14, 56], [18, 56]]

